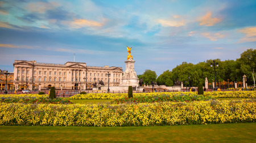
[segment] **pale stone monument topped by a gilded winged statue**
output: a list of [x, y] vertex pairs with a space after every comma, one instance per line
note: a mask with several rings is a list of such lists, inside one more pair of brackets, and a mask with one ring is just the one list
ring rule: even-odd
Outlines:
[[139, 79], [137, 74], [134, 70], [134, 63], [133, 55], [131, 55], [131, 47], [127, 46], [127, 60], [125, 61], [125, 72], [123, 72], [122, 77], [122, 84], [121, 86], [138, 86]]

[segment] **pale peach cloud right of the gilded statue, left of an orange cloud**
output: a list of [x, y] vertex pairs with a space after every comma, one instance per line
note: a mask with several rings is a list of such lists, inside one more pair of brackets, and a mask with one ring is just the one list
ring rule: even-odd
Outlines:
[[163, 27], [181, 27], [185, 25], [185, 20], [180, 15], [174, 15], [171, 19], [158, 19], [158, 23]]

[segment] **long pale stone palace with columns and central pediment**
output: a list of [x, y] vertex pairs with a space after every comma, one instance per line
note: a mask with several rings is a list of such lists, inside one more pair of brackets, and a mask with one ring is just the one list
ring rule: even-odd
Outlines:
[[37, 63], [35, 60], [15, 60], [13, 65], [15, 90], [46, 90], [51, 86], [59, 90], [86, 90], [101, 80], [105, 86], [108, 79], [109, 86], [119, 86], [122, 82], [122, 67], [86, 66], [81, 62]]

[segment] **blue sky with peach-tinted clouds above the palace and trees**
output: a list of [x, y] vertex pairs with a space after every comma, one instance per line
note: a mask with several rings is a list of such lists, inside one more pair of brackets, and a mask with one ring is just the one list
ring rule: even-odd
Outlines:
[[14, 60], [84, 62], [159, 76], [182, 62], [236, 60], [255, 49], [256, 1], [0, 1], [0, 70]]

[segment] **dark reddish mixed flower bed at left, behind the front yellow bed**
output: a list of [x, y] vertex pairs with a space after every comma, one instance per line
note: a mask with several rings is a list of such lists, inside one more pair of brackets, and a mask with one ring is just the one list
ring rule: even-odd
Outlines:
[[43, 103], [43, 104], [72, 104], [68, 99], [48, 97], [2, 97], [0, 103]]

